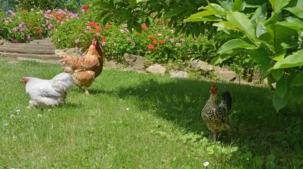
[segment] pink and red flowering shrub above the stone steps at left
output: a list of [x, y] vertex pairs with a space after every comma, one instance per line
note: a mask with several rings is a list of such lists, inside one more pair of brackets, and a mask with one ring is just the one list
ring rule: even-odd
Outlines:
[[67, 10], [36, 10], [0, 12], [0, 36], [12, 42], [29, 41], [35, 36], [51, 35], [58, 25], [77, 19]]

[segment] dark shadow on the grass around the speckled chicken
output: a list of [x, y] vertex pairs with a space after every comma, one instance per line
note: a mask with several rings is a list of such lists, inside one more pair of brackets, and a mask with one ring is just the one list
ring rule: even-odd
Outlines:
[[[153, 77], [153, 80], [150, 80], [148, 77], [139, 77], [139, 85], [120, 86], [112, 92], [120, 99], [135, 98], [137, 106], [142, 111], [151, 109], [152, 114], [171, 121], [183, 131], [204, 133], [203, 136], [208, 138], [211, 133], [201, 118], [201, 110], [209, 99], [212, 85], [213, 82], [198, 80], [167, 80], [161, 77]], [[291, 134], [286, 134], [285, 128], [293, 129], [288, 123], [303, 120], [302, 116], [299, 116], [303, 104], [298, 105], [293, 101], [276, 113], [272, 105], [273, 92], [268, 91], [267, 88], [218, 82], [216, 82], [216, 87], [219, 90], [219, 98], [223, 91], [231, 93], [230, 124], [239, 128], [239, 132], [233, 136], [233, 139], [238, 141], [233, 144], [242, 147], [243, 152], [251, 151], [255, 155], [268, 155], [271, 154], [272, 149], [281, 151], [283, 145], [279, 139], [279, 132], [285, 135], [283, 139], [288, 142], [291, 140], [288, 138]], [[103, 93], [104, 90], [94, 92]], [[301, 128], [298, 132], [303, 133]], [[222, 135], [218, 140], [227, 145], [231, 143], [227, 142], [225, 136], [222, 138]], [[295, 142], [301, 142], [299, 137]], [[298, 148], [295, 142], [288, 145], [294, 154]]]

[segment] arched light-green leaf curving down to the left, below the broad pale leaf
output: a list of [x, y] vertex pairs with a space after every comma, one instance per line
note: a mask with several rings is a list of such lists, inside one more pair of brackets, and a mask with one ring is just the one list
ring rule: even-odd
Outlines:
[[241, 40], [241, 39], [232, 39], [226, 43], [224, 43], [220, 49], [218, 49], [217, 53], [223, 54], [223, 53], [232, 53], [232, 49], [238, 49], [238, 48], [257, 48], [255, 45], [248, 44], [247, 42]]

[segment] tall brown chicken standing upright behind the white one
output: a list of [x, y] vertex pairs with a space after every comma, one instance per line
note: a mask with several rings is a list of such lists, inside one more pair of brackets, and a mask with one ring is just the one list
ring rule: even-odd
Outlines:
[[103, 68], [103, 54], [97, 37], [83, 57], [67, 55], [62, 50], [55, 50], [55, 54], [61, 58], [60, 64], [64, 72], [72, 74], [75, 85], [79, 87], [80, 91], [84, 86], [85, 92], [88, 94], [87, 88], [101, 74]]

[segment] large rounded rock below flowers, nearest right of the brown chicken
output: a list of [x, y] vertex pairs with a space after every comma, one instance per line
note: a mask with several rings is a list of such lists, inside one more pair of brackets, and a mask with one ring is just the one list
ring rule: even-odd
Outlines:
[[144, 70], [145, 64], [142, 56], [136, 56], [129, 53], [123, 55], [122, 62], [127, 66], [137, 70]]

